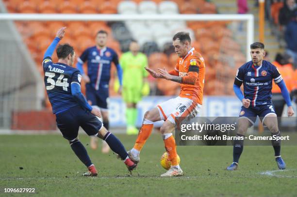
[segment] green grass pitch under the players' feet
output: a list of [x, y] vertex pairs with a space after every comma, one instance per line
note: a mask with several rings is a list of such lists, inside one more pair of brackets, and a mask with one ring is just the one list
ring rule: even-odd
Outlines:
[[[116, 136], [127, 150], [136, 137]], [[287, 164], [282, 171], [277, 168], [271, 146], [245, 146], [236, 171], [225, 170], [232, 161], [231, 146], [178, 147], [185, 175], [161, 178], [165, 170], [160, 157], [165, 149], [158, 134], [148, 139], [132, 175], [113, 153], [93, 151], [88, 146], [89, 137], [80, 138], [99, 170], [98, 177], [82, 177], [86, 168], [60, 135], [0, 136], [0, 196], [30, 195], [4, 193], [4, 188], [35, 188], [41, 197], [297, 196], [297, 146], [281, 148]]]

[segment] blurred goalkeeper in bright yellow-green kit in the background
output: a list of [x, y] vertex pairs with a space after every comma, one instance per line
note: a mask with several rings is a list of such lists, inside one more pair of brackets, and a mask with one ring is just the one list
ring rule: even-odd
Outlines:
[[143, 95], [148, 95], [149, 86], [147, 82], [148, 72], [144, 69], [148, 66], [145, 54], [139, 52], [139, 45], [132, 40], [130, 51], [124, 53], [120, 58], [123, 69], [123, 99], [126, 103], [127, 134], [137, 135], [135, 127], [137, 121], [137, 103]]

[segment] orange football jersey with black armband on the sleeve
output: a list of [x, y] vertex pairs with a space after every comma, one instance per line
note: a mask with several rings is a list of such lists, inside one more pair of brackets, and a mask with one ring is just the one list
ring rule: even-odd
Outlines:
[[189, 98], [192, 101], [202, 105], [205, 64], [202, 56], [195, 50], [194, 47], [188, 51], [188, 54], [184, 58], [178, 59], [175, 70], [179, 72], [179, 76], [181, 77], [188, 76], [190, 66], [198, 67], [198, 78], [195, 85], [181, 83], [180, 97]]

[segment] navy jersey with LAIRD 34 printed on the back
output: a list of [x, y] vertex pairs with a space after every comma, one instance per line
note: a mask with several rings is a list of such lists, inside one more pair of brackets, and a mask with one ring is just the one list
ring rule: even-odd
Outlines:
[[57, 114], [72, 106], [79, 106], [71, 94], [71, 84], [81, 84], [80, 71], [64, 63], [53, 63], [50, 57], [46, 57], [42, 65], [52, 112]]

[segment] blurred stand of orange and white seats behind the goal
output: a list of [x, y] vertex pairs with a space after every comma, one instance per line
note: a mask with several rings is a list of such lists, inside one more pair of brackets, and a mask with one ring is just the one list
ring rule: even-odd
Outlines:
[[[118, 13], [123, 15], [217, 13], [215, 4], [205, 0], [4, 0], [4, 4], [11, 13]], [[237, 67], [245, 62], [246, 58], [241, 46], [233, 39], [232, 31], [228, 28], [229, 23], [229, 21], [126, 21], [116, 23], [31, 21], [16, 22], [16, 27], [40, 72], [42, 72], [40, 62], [43, 53], [51, 42], [55, 30], [61, 26], [66, 26], [70, 32], [63, 42], [74, 45], [78, 55], [86, 47], [95, 44], [95, 33], [100, 29], [109, 33], [108, 45], [113, 47], [118, 54], [127, 51], [131, 39], [136, 39], [142, 51], [148, 55], [149, 66], [153, 69], [174, 67], [177, 56], [171, 46], [172, 36], [181, 30], [188, 31], [193, 40], [193, 46], [200, 51], [206, 62], [205, 94], [231, 95], [233, 94], [231, 88], [225, 88], [222, 84], [233, 82]], [[179, 88], [174, 82], [169, 81], [165, 84], [163, 80], [155, 81], [151, 78], [149, 80], [152, 84], [156, 84], [154, 87], [151, 84], [151, 88], [159, 89], [151, 92], [161, 91], [164, 95], [174, 95]], [[111, 95], [115, 95], [115, 92], [111, 91]]]

